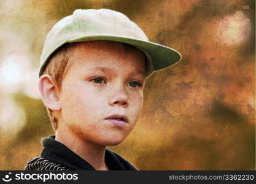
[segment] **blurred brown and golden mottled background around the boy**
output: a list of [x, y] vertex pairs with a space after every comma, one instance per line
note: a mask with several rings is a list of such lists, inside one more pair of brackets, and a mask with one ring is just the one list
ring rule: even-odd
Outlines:
[[182, 55], [149, 77], [136, 128], [110, 148], [141, 170], [254, 170], [254, 0], [1, 0], [0, 170], [23, 170], [54, 134], [37, 89], [48, 31], [100, 8]]

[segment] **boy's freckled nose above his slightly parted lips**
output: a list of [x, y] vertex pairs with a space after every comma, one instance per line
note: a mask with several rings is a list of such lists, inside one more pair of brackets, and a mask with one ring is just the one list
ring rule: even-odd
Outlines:
[[128, 94], [124, 86], [112, 86], [111, 97], [109, 99], [109, 105], [128, 107]]

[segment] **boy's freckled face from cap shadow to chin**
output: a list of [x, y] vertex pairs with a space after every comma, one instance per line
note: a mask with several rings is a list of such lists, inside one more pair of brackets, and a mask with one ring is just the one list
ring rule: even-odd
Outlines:
[[[120, 144], [142, 109], [144, 65], [144, 54], [122, 43], [77, 45], [59, 93], [59, 127], [88, 142]], [[116, 115], [126, 120], [117, 120]]]

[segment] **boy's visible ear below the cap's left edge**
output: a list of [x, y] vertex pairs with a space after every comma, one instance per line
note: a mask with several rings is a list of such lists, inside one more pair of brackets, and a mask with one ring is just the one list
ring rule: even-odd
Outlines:
[[39, 90], [45, 106], [51, 110], [61, 110], [58, 98], [58, 88], [52, 76], [44, 74], [39, 79]]

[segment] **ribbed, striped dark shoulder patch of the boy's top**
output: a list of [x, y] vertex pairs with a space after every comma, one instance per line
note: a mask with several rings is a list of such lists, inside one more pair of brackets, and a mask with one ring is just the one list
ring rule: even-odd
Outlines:
[[42, 157], [30, 159], [25, 166], [25, 171], [67, 171], [68, 167], [54, 163]]

